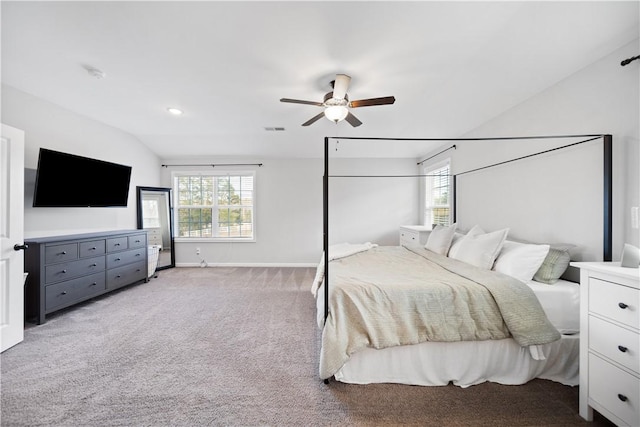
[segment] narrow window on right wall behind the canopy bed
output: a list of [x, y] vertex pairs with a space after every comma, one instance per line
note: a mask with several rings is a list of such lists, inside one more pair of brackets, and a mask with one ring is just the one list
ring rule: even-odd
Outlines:
[[425, 167], [425, 225], [451, 223], [451, 179], [449, 160]]

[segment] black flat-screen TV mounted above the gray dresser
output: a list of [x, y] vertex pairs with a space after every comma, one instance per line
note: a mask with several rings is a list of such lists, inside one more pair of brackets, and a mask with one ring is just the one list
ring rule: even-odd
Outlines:
[[131, 166], [40, 149], [34, 207], [124, 207]]

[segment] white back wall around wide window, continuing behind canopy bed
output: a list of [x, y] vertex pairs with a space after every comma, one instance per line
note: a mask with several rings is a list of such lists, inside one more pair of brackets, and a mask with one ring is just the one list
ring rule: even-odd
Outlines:
[[[167, 160], [172, 164], [262, 163], [256, 172], [255, 242], [176, 242], [176, 265], [316, 265], [322, 254], [322, 159], [198, 159]], [[168, 167], [171, 172], [193, 167]], [[245, 168], [246, 169], [246, 168]], [[330, 174], [415, 173], [413, 159], [335, 159]], [[228, 168], [225, 170], [229, 170]], [[330, 243], [373, 241], [398, 244], [398, 227], [415, 224], [418, 211], [416, 179], [361, 180], [332, 178], [330, 182]], [[200, 248], [200, 257], [196, 255]]]

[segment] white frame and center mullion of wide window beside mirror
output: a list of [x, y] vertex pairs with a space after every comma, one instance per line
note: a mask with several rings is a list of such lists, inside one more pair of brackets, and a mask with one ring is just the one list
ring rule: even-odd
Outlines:
[[[255, 243], [257, 241], [257, 231], [256, 231], [256, 195], [257, 195], [257, 191], [256, 191], [256, 182], [257, 182], [257, 177], [256, 177], [256, 171], [253, 170], [234, 170], [234, 171], [174, 171], [171, 173], [171, 188], [172, 188], [172, 192], [173, 192], [173, 207], [174, 207], [174, 215], [173, 215], [173, 225], [174, 225], [174, 230], [176, 230], [176, 236], [174, 237], [174, 241], [175, 242], [179, 242], [179, 243], [194, 243], [194, 242], [211, 242], [211, 243]], [[238, 177], [238, 176], [251, 176], [253, 178], [253, 190], [252, 190], [252, 204], [251, 204], [251, 217], [252, 217], [252, 221], [251, 221], [251, 225], [252, 225], [252, 229], [253, 229], [253, 233], [252, 233], [252, 237], [179, 237], [178, 233], [179, 233], [179, 214], [178, 211], [180, 209], [180, 204], [179, 202], [179, 191], [178, 191], [178, 183], [177, 183], [177, 179], [178, 177], [185, 177], [185, 176], [211, 176], [214, 178], [218, 178], [218, 177]], [[217, 182], [217, 179], [216, 179]], [[213, 195], [213, 200], [214, 203], [211, 205], [211, 208], [214, 212], [211, 213], [211, 226], [212, 228], [217, 227], [218, 224], [218, 215], [217, 215], [217, 209], [220, 205], [217, 204], [217, 185], [214, 186], [214, 195]], [[203, 205], [204, 206], [204, 205]], [[227, 206], [227, 205], [225, 205]], [[232, 205], [234, 206], [234, 205]]]

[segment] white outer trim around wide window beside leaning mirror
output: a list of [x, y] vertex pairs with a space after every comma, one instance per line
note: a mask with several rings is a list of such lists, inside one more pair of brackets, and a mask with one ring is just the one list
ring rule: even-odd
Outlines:
[[[256, 243], [257, 242], [257, 217], [256, 217], [256, 171], [254, 170], [227, 170], [227, 171], [173, 171], [171, 172], [171, 188], [173, 193], [173, 229], [178, 230], [178, 191], [175, 188], [176, 178], [179, 176], [229, 176], [229, 175], [251, 175], [253, 176], [253, 237], [174, 237], [173, 241], [177, 243]], [[215, 219], [214, 219], [215, 218]], [[217, 224], [217, 215], [212, 216], [212, 221]]]

